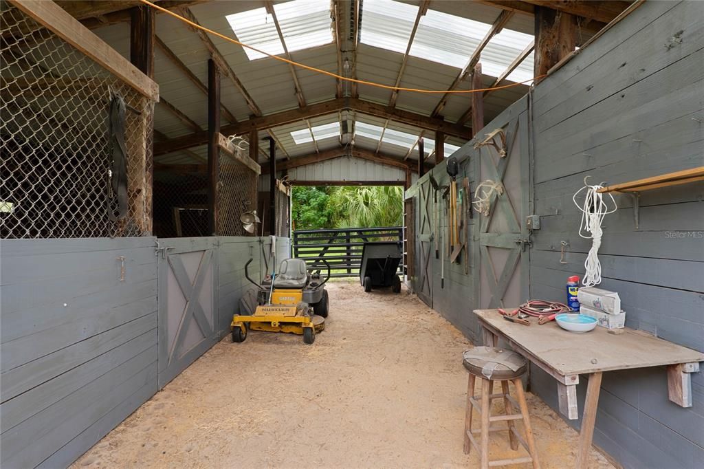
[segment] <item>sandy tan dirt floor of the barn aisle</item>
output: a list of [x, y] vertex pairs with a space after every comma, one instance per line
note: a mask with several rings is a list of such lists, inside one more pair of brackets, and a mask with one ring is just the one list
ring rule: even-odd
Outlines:
[[[406, 289], [327, 288], [330, 315], [315, 344], [226, 337], [74, 467], [479, 467], [476, 452], [462, 451], [470, 342]], [[527, 396], [541, 465], [572, 467], [577, 432]], [[490, 442], [491, 458], [516, 456], [506, 432]], [[592, 450], [590, 467], [613, 466]]]

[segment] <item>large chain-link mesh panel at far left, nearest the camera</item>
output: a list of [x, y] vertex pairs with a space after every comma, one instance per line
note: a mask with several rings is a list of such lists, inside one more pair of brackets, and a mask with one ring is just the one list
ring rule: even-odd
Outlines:
[[[0, 238], [149, 234], [153, 101], [17, 8], [0, 8]], [[113, 114], [111, 127], [115, 99], [124, 118]]]

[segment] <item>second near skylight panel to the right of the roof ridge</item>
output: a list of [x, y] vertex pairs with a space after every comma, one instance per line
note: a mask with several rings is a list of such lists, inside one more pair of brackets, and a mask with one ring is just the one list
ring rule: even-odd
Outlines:
[[490, 28], [486, 23], [428, 10], [420, 19], [410, 55], [463, 68]]

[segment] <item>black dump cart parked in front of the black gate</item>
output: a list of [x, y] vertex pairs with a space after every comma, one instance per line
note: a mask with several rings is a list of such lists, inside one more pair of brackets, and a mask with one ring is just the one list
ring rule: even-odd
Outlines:
[[362, 265], [359, 280], [365, 292], [372, 287], [391, 287], [394, 293], [401, 292], [401, 277], [398, 277], [398, 264], [403, 256], [401, 242], [367, 242], [362, 250]]

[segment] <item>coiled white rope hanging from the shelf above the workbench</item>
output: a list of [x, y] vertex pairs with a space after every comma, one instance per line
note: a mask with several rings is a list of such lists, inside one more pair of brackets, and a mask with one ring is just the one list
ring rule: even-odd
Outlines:
[[[585, 177], [584, 187], [579, 189], [574, 193], [574, 196], [572, 196], [572, 201], [574, 201], [574, 205], [582, 211], [582, 221], [579, 223], [579, 236], [593, 240], [589, 254], [587, 254], [586, 261], [584, 261], [584, 269], [586, 272], [584, 273], [584, 278], [582, 278], [582, 284], [585, 287], [593, 287], [601, 283], [601, 263], [599, 263], [598, 257], [599, 247], [601, 247], [601, 235], [603, 234], [601, 222], [605, 215], [614, 213], [617, 206], [613, 196], [607, 193], [613, 204], [613, 208], [610, 209], [604, 201], [603, 194], [596, 192], [598, 189], [601, 189], [603, 185], [587, 185], [586, 179]], [[586, 195], [584, 197], [584, 203], [579, 205], [577, 196], [582, 191], [586, 191]]]

